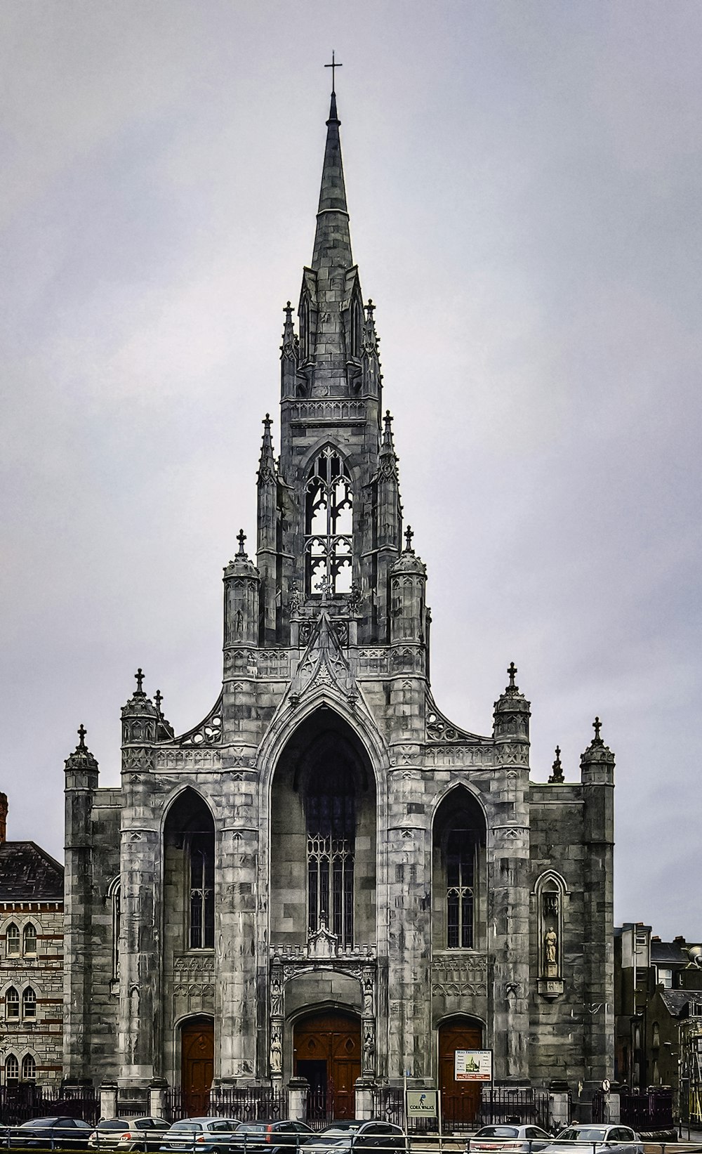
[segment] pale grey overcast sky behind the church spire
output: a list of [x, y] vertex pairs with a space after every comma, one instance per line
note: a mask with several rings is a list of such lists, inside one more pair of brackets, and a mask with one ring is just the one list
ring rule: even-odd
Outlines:
[[616, 917], [702, 938], [702, 6], [3, 0], [8, 837], [62, 856], [76, 728], [119, 781], [134, 672], [221, 677], [282, 307], [311, 258], [332, 48], [432, 684], [533, 777], [595, 714]]

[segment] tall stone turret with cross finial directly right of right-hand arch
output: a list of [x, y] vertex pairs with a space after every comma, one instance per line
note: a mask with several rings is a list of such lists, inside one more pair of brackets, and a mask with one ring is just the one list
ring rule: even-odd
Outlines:
[[[495, 703], [497, 818], [490, 823], [488, 924], [495, 926], [492, 1047], [496, 1078], [529, 1077], [529, 702], [514, 682]], [[497, 784], [496, 780], [496, 784]]]

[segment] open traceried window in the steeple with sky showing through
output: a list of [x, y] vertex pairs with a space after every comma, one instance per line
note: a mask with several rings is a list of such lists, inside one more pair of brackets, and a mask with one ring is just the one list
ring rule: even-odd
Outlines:
[[305, 493], [305, 583], [309, 597], [350, 593], [354, 495], [346, 463], [332, 445], [315, 457]]

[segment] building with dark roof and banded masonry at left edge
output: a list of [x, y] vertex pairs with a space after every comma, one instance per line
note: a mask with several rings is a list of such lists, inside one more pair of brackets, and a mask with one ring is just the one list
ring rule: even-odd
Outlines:
[[63, 867], [7, 841], [0, 794], [1, 1086], [56, 1085], [63, 1050]]

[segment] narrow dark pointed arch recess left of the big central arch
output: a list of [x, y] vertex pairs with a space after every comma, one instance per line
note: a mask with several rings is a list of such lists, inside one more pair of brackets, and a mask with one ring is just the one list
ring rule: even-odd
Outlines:
[[164, 914], [174, 949], [214, 947], [214, 822], [190, 787], [171, 802], [164, 822]]

